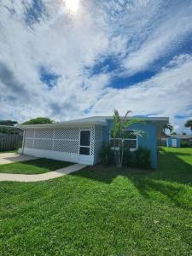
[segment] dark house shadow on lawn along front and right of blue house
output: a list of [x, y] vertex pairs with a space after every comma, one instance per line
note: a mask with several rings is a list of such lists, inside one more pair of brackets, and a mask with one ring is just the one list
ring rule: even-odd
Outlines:
[[[167, 152], [160, 149], [159, 167], [155, 171], [138, 170], [130, 167], [118, 169], [116, 166], [89, 166], [83, 171], [75, 172], [73, 175], [95, 179], [103, 183], [111, 183], [119, 175], [125, 177], [137, 177], [137, 179], [149, 178], [174, 183], [192, 185], [192, 165], [180, 159], [180, 153]], [[188, 155], [188, 154], [187, 154]], [[192, 157], [192, 152], [189, 154]]]

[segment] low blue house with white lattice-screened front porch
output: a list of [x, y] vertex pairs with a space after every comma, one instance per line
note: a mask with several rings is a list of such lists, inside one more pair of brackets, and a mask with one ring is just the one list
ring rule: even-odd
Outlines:
[[[126, 138], [125, 143], [131, 151], [138, 147], [150, 149], [152, 168], [156, 168], [157, 134], [169, 119], [148, 117], [144, 120], [144, 123], [129, 127], [129, 131], [144, 131], [146, 136]], [[37, 157], [95, 165], [99, 161], [102, 144], [113, 144], [110, 133], [113, 129], [113, 117], [110, 116], [94, 116], [53, 124], [20, 125], [20, 128], [24, 130], [20, 153]]]

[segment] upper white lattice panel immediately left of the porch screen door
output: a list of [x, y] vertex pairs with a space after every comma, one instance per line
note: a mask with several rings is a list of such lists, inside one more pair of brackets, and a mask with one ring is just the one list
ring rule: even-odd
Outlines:
[[55, 139], [79, 140], [79, 128], [57, 128], [55, 129]]

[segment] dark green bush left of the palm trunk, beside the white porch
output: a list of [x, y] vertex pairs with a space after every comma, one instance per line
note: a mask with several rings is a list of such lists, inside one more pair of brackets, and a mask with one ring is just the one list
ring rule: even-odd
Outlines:
[[113, 163], [114, 154], [110, 144], [103, 144], [99, 152], [100, 162], [102, 165], [108, 166]]

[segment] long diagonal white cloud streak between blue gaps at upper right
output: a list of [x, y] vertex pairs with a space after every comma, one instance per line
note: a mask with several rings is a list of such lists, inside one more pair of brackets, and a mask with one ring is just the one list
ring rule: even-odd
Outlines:
[[192, 5], [181, 5], [179, 9], [172, 7], [166, 15], [160, 16], [157, 26], [154, 26], [140, 48], [132, 51], [124, 60], [124, 65], [130, 73], [145, 70], [160, 57], [181, 46], [192, 33]]

